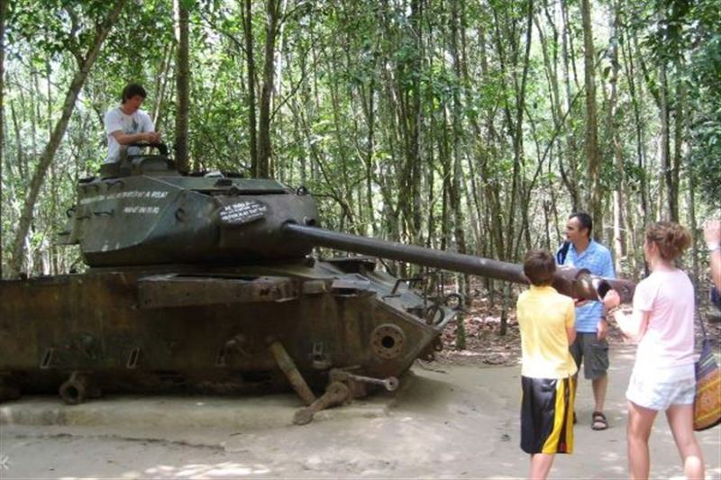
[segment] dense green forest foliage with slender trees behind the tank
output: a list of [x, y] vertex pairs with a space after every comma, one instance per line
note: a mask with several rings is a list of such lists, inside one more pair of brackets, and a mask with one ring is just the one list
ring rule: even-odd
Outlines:
[[[246, 172], [251, 164], [248, 93], [255, 88], [256, 101], [260, 98], [266, 3], [252, 2], [257, 78], [250, 86], [244, 2], [180, 1], [190, 12], [191, 165]], [[527, 66], [527, 0], [279, 4], [286, 10], [281, 13], [282, 32], [274, 57], [272, 167], [278, 179], [305, 184], [321, 195], [325, 225], [393, 239], [429, 239], [436, 245], [443, 239], [452, 248], [458, 239], [452, 229], [449, 188], [456, 176], [461, 184], [461, 227], [468, 232], [470, 249], [495, 255], [497, 246], [489, 239], [497, 235], [497, 219], [503, 229], [514, 226], [514, 221], [517, 227], [511, 233], [501, 232], [501, 247], [523, 239], [519, 230], [524, 228], [534, 233], [529, 235], [533, 241], [540, 241], [535, 239], [547, 227], [544, 215], [554, 216], [546, 210], [550, 204], [562, 222], [570, 210], [570, 187], [582, 191], [586, 182], [580, 2], [533, 3], [534, 36]], [[614, 5], [623, 25], [611, 36], [607, 14]], [[100, 0], [10, 3], [2, 178], [5, 252], [13, 240], [28, 179], [78, 68], [78, 54], [87, 50], [96, 23], [112, 6], [113, 2]], [[561, 9], [568, 24], [561, 20]], [[629, 202], [639, 204], [643, 194], [651, 197], [649, 214], [659, 210], [658, 195], [653, 193], [662, 188], [657, 165], [660, 124], [653, 94], [663, 64], [668, 67], [669, 85], [680, 80], [688, 95], [685, 100], [676, 98], [675, 90], [669, 90], [671, 117], [680, 102], [687, 102], [689, 113], [683, 151], [689, 152], [690, 168], [682, 172], [682, 180], [687, 172], [694, 175], [699, 211], [721, 206], [717, 0], [623, 0], [594, 5], [593, 10], [605, 203], [620, 177], [613, 161], [616, 142]], [[126, 83], [136, 81], [146, 87], [144, 108], [153, 111], [157, 104], [157, 127], [166, 141], [173, 142], [173, 18], [169, 0], [130, 0], [105, 41], [35, 211], [29, 240], [34, 272], [67, 271], [78, 259], [77, 250], [52, 247], [52, 235], [73, 202], [78, 178], [94, 175], [105, 158], [103, 114], [118, 103]], [[547, 41], [548, 66], [538, 28]], [[607, 122], [611, 46], [624, 54], [618, 60], [616, 109]], [[514, 125], [524, 68], [528, 80], [522, 151], [516, 164]], [[558, 86], [555, 100], [552, 80]], [[560, 112], [553, 111], [553, 101], [559, 103]], [[456, 158], [460, 174], [454, 170]], [[520, 193], [511, 212], [514, 185]], [[471, 215], [471, 208], [478, 211]], [[474, 217], [478, 224], [472, 225]], [[524, 218], [529, 225], [521, 224]], [[558, 225], [549, 227], [551, 242], [559, 240], [555, 231], [560, 230]], [[472, 231], [482, 233], [471, 238]], [[55, 267], [43, 264], [48, 249]]]

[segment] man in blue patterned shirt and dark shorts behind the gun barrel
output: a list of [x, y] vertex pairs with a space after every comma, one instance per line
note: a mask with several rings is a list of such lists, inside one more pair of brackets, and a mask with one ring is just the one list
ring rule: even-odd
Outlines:
[[[586, 268], [591, 274], [615, 278], [611, 252], [591, 238], [593, 222], [588, 213], [572, 213], [566, 224], [566, 243], [556, 255], [559, 265]], [[576, 360], [583, 375], [591, 380], [593, 398], [596, 403], [591, 415], [593, 430], [606, 430], [608, 422], [603, 413], [608, 386], [608, 343], [603, 304], [593, 301], [576, 303], [576, 341], [570, 346], [570, 354]], [[578, 385], [578, 384], [576, 384]]]

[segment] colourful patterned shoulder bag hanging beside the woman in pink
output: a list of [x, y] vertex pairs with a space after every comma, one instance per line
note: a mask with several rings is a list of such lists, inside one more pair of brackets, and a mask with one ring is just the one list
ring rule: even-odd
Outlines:
[[711, 342], [706, 338], [696, 362], [696, 399], [693, 403], [693, 430], [701, 431], [721, 423], [721, 370], [716, 365]]

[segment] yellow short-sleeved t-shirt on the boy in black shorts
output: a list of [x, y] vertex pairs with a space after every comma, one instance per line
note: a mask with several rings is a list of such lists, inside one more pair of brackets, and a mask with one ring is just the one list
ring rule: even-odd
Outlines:
[[573, 300], [552, 286], [534, 286], [518, 296], [523, 367], [521, 375], [566, 378], [576, 373], [566, 328], [576, 320]]

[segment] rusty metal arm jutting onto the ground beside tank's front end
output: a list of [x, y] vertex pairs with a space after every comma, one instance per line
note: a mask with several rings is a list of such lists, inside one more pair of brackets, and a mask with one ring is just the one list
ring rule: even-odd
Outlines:
[[330, 382], [325, 387], [325, 393], [314, 403], [296, 412], [293, 423], [306, 425], [313, 421], [315, 413], [343, 403], [350, 403], [353, 396], [359, 392], [365, 392], [365, 384], [383, 386], [388, 392], [393, 392], [398, 387], [398, 379], [395, 376], [387, 378], [374, 378], [372, 376], [353, 375], [346, 370], [333, 368], [330, 371]]

